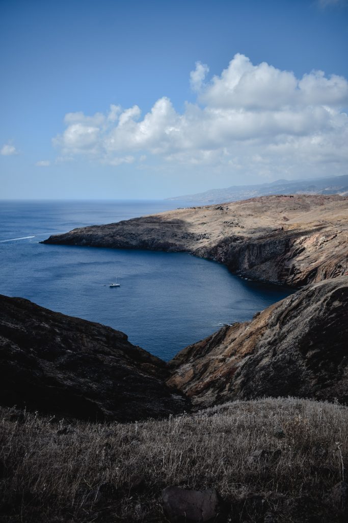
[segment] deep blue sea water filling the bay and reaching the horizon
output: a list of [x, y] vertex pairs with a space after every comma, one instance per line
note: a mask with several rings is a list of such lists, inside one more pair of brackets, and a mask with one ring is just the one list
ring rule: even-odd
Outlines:
[[[186, 253], [39, 243], [75, 227], [178, 206], [160, 200], [1, 201], [0, 293], [110, 325], [165, 360], [291, 293]], [[121, 287], [112, 289], [116, 275]]]

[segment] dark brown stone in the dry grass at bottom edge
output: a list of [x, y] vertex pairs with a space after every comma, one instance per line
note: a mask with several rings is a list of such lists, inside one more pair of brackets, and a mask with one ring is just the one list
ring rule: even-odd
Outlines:
[[214, 488], [195, 491], [166, 487], [161, 495], [164, 510], [171, 523], [203, 523], [218, 515], [219, 498]]

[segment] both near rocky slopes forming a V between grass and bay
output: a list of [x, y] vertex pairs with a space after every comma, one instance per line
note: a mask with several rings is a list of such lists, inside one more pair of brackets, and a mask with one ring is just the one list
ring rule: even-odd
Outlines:
[[348, 276], [224, 326], [167, 365], [97, 323], [0, 296], [0, 404], [134, 421], [260, 396], [348, 402]]

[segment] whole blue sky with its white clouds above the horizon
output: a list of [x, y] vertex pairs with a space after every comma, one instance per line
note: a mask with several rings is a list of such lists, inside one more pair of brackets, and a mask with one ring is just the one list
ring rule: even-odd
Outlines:
[[0, 199], [347, 174], [346, 0], [0, 0]]

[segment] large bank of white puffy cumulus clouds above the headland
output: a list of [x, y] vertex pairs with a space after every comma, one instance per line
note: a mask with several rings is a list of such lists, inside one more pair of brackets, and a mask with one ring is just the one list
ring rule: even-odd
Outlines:
[[272, 177], [336, 174], [348, 163], [348, 82], [311, 71], [297, 78], [236, 54], [220, 75], [196, 63], [190, 74], [196, 103], [177, 112], [155, 101], [145, 115], [137, 105], [65, 116], [54, 144], [66, 157], [119, 166], [145, 156], [173, 164], [207, 165], [226, 172]]

